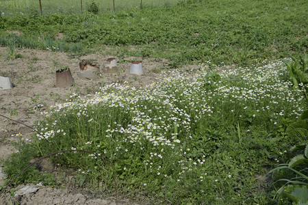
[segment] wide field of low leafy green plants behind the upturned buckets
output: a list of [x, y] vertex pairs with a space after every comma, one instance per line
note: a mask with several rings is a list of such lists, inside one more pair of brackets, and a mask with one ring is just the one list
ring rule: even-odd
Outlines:
[[21, 47], [165, 58], [170, 67], [208, 60], [246, 66], [305, 53], [307, 6], [303, 0], [192, 1], [115, 14], [3, 16], [0, 44], [16, 38], [7, 30], [18, 30]]

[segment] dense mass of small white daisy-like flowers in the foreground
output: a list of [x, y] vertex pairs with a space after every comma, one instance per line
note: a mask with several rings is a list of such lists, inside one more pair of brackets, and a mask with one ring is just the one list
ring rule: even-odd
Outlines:
[[[179, 160], [175, 164], [181, 167], [181, 172], [176, 172], [179, 176], [191, 172], [194, 167], [205, 166], [205, 155], [192, 157], [189, 154], [194, 151], [194, 147], [183, 145], [194, 137], [192, 133], [196, 123], [223, 113], [218, 109], [220, 105], [228, 108], [228, 115], [242, 113], [239, 118], [251, 120], [259, 120], [262, 115], [266, 115], [272, 118], [272, 122], [268, 122], [275, 125], [279, 124], [282, 117], [298, 116], [303, 111], [301, 102], [305, 100], [304, 97], [299, 91], [289, 89], [290, 82], [280, 80], [281, 74], [286, 72], [280, 63], [273, 62], [260, 68], [221, 71], [220, 81], [215, 81], [211, 89], [205, 89], [207, 66], [201, 65], [200, 70], [199, 74], [192, 76], [173, 70], [165, 74], [166, 78], [158, 83], [151, 83], [144, 90], [113, 83], [101, 87], [92, 96], [81, 98], [73, 94], [73, 100], [57, 104], [43, 114], [49, 116], [72, 111], [78, 116], [77, 119], [86, 119], [84, 122], [88, 122], [87, 124], [106, 123], [99, 140], [114, 143], [114, 159], [120, 159], [125, 154], [142, 152], [142, 163], [148, 170], [146, 172], [155, 174], [156, 177], [166, 177], [168, 173], [164, 172], [164, 163], [170, 154], [178, 156]], [[99, 122], [100, 119], [93, 111], [95, 109], [110, 111], [106, 113], [107, 116], [112, 116], [112, 111], [120, 109], [121, 113], [129, 113], [129, 122]], [[125, 123], [126, 125], [122, 125]], [[247, 128], [243, 131], [253, 132]], [[55, 133], [65, 135], [63, 130], [49, 131], [44, 127], [40, 132], [47, 139], [52, 138]], [[103, 143], [97, 145], [95, 140], [90, 139], [85, 139], [83, 146], [86, 144], [102, 149], [101, 153], [104, 154], [110, 152], [107, 148], [101, 148]], [[206, 137], [206, 140], [213, 139]], [[130, 170], [129, 165], [121, 169]], [[233, 178], [231, 174], [226, 178]], [[205, 180], [206, 175], [199, 175], [198, 180]]]

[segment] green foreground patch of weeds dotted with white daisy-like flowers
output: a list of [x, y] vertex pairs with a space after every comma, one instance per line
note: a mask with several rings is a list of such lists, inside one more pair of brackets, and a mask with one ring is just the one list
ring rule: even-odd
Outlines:
[[[144, 90], [112, 84], [87, 98], [73, 94], [45, 112], [36, 128], [55, 150], [110, 159], [127, 197], [147, 195], [162, 204], [273, 202], [269, 184], [257, 176], [283, 161], [296, 142], [286, 129], [303, 111], [303, 90], [292, 87], [279, 61], [220, 74], [207, 66], [196, 75], [168, 72]], [[32, 155], [25, 149], [14, 157], [54, 152], [40, 135], [31, 149]], [[73, 167], [76, 182], [114, 191], [107, 161], [73, 152], [60, 158], [54, 163]]]

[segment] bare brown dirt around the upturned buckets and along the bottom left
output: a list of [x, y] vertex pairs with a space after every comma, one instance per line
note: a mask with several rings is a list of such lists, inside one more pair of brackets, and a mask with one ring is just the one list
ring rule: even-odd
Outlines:
[[[55, 103], [63, 102], [73, 93], [81, 95], [93, 94], [98, 87], [108, 83], [128, 82], [128, 85], [142, 88], [145, 85], [158, 81], [164, 77], [162, 70], [168, 61], [162, 59], [137, 59], [142, 61], [144, 74], [136, 76], [129, 74], [131, 61], [136, 58], [127, 57], [116, 59], [117, 73], [103, 72], [106, 60], [115, 56], [103, 56], [99, 53], [71, 57], [66, 53], [51, 51], [37, 51], [30, 49], [16, 49], [16, 59], [8, 59], [8, 49], [0, 47], [0, 77], [10, 77], [13, 88], [0, 90], [0, 114], [12, 120], [17, 120], [28, 126], [33, 126], [41, 118], [40, 112], [48, 109]], [[82, 59], [94, 59], [100, 66], [101, 77], [84, 79], [79, 77], [79, 62]], [[71, 87], [55, 86], [55, 71], [68, 66], [75, 83]], [[194, 69], [198, 66], [183, 66], [183, 69]], [[31, 139], [31, 128], [13, 122], [0, 116], [0, 187], [5, 184], [5, 175], [2, 172], [3, 160], [16, 152], [14, 143], [21, 137]], [[52, 165], [51, 165], [52, 167]], [[52, 170], [52, 169], [51, 169]], [[23, 184], [15, 190], [29, 184]], [[32, 184], [33, 185], [33, 184]], [[103, 199], [99, 195], [77, 189], [54, 189], [40, 187], [34, 193], [26, 193], [12, 197], [8, 193], [0, 196], [0, 204], [116, 204], [113, 199]], [[148, 204], [147, 202], [130, 202], [121, 200], [118, 204]]]

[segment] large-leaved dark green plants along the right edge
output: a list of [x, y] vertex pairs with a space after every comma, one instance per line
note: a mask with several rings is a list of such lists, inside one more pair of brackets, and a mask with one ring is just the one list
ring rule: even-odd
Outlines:
[[290, 124], [287, 131], [291, 136], [298, 139], [290, 151], [290, 157], [287, 159], [286, 164], [281, 164], [277, 168], [270, 171], [276, 173], [277, 184], [277, 202], [284, 204], [286, 201], [292, 201], [298, 204], [308, 203], [308, 57], [307, 54], [303, 57], [292, 57], [291, 60], [285, 60], [287, 70], [289, 71], [290, 79], [296, 89], [303, 91], [306, 96], [306, 106], [303, 114], [296, 122]]

